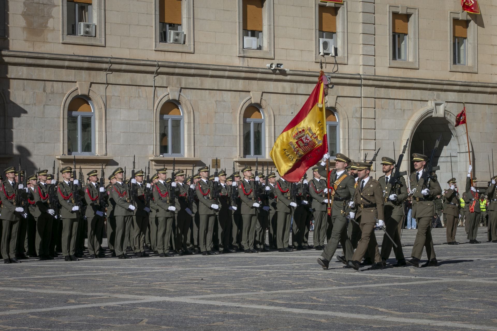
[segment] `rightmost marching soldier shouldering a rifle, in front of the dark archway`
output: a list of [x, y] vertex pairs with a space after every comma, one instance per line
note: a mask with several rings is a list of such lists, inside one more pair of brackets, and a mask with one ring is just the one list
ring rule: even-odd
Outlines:
[[[414, 240], [411, 260], [407, 263], [419, 266], [419, 260], [423, 254], [423, 247], [426, 249], [428, 262], [423, 266], [437, 266], [435, 250], [433, 249], [433, 239], [431, 238], [431, 220], [435, 215], [435, 203], [433, 200], [442, 193], [440, 184], [435, 178], [421, 178], [428, 157], [422, 154], [413, 154], [414, 172], [409, 176], [408, 193], [413, 197], [413, 217], [417, 222], [416, 239]], [[428, 182], [429, 181], [429, 186]]]

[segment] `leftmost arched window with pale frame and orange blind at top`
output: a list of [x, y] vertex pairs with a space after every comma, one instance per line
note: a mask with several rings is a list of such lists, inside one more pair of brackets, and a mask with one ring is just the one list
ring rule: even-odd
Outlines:
[[69, 155], [95, 154], [95, 111], [91, 100], [82, 95], [69, 103], [67, 147]]

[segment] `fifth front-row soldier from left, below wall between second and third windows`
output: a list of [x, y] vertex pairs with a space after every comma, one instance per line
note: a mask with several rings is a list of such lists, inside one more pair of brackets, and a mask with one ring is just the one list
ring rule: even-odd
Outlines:
[[214, 200], [214, 183], [208, 180], [209, 168], [202, 167], [198, 170], [200, 180], [195, 186], [199, 214], [199, 244], [202, 255], [214, 255], [212, 252], [212, 236], [216, 211], [219, 205]]

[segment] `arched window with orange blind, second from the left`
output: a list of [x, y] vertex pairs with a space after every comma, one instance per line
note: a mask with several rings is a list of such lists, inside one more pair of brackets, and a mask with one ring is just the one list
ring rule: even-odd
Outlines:
[[159, 115], [159, 145], [164, 156], [183, 156], [183, 112], [181, 106], [168, 101]]

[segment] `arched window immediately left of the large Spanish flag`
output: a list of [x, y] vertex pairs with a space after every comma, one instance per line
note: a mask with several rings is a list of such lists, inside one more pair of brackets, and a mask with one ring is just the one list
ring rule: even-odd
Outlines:
[[244, 156], [264, 157], [264, 117], [256, 105], [244, 112]]

